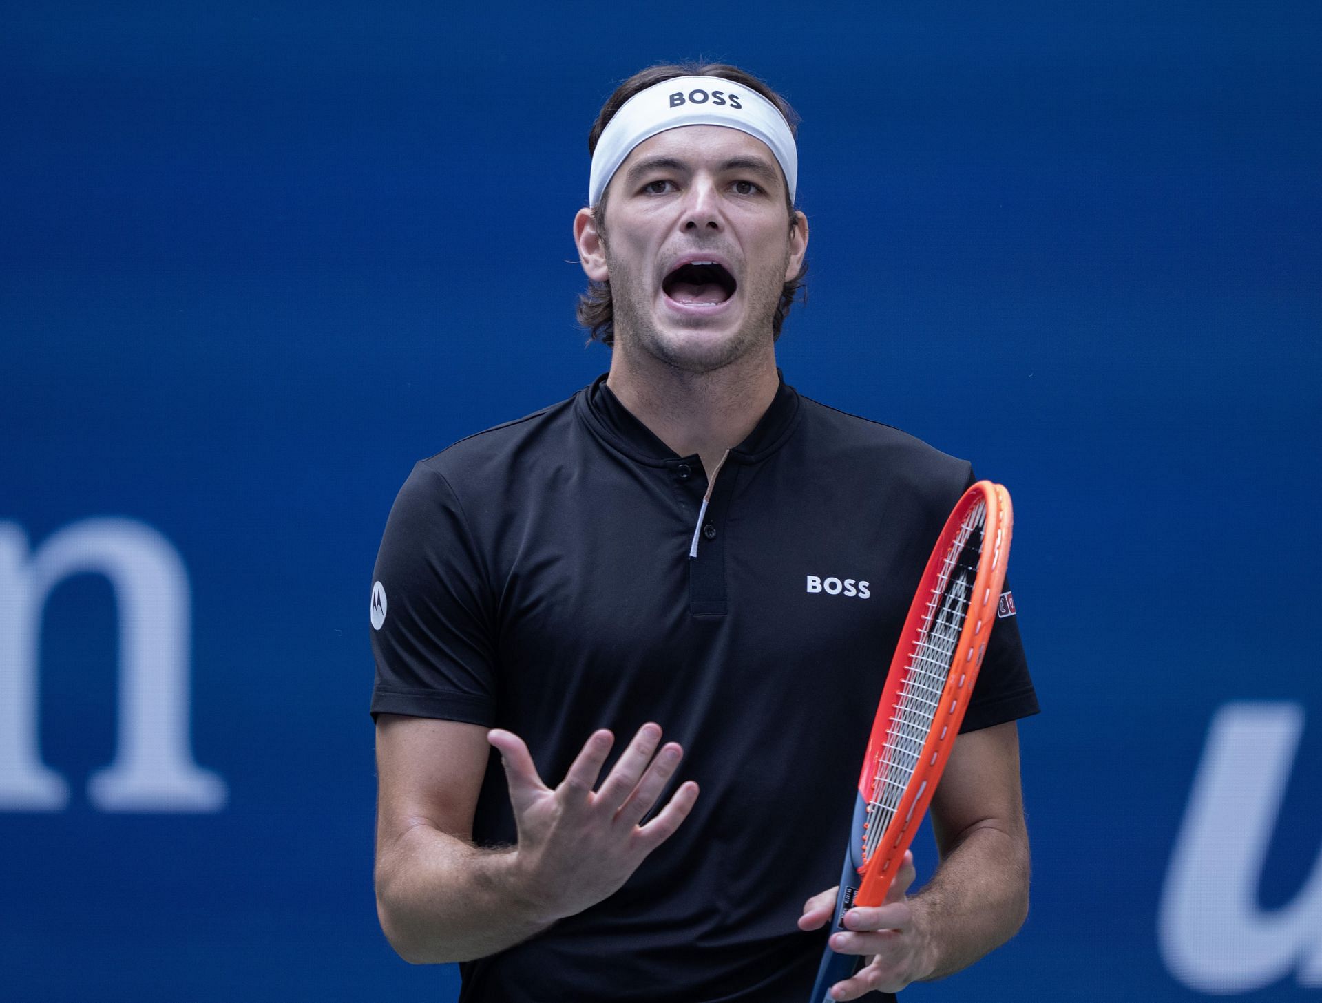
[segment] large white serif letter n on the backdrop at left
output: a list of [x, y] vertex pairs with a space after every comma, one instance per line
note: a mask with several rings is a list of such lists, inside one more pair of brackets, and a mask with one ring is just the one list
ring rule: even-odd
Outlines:
[[115, 760], [93, 774], [89, 799], [102, 811], [218, 811], [225, 781], [190, 751], [188, 572], [159, 533], [110, 518], [66, 526], [30, 555], [22, 530], [0, 522], [0, 811], [69, 802], [38, 749], [41, 620], [52, 589], [86, 572], [110, 581], [119, 624]]

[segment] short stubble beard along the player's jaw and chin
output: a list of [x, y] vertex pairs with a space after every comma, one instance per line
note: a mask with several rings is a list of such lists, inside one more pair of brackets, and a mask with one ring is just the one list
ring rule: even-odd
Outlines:
[[627, 268], [615, 262], [609, 248], [605, 250], [607, 268], [611, 274], [611, 309], [615, 322], [615, 349], [627, 353], [644, 353], [670, 369], [689, 375], [705, 375], [726, 369], [750, 353], [771, 346], [772, 321], [780, 304], [780, 291], [784, 287], [785, 268], [789, 266], [789, 250], [780, 263], [777, 274], [754, 279], [746, 278], [751, 288], [740, 285], [738, 295], [744, 297], [746, 312], [743, 324], [730, 336], [706, 345], [702, 350], [681, 348], [674, 338], [666, 337], [656, 324], [652, 300], [640, 291], [644, 283], [631, 275]]

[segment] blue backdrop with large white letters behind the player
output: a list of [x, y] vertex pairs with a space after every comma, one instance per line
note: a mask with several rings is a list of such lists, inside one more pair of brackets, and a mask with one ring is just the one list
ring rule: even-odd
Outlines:
[[787, 379], [1014, 493], [1032, 914], [906, 998], [1322, 998], [1319, 29], [7, 5], [0, 996], [452, 998], [374, 914], [375, 547], [415, 459], [607, 367], [588, 126], [702, 56], [804, 118]]

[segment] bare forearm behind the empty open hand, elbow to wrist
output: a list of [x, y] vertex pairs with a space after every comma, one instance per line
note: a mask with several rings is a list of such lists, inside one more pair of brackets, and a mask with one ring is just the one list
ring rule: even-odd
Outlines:
[[484, 850], [427, 825], [403, 833], [377, 868], [377, 914], [414, 965], [471, 961], [547, 929], [525, 893], [513, 850]]

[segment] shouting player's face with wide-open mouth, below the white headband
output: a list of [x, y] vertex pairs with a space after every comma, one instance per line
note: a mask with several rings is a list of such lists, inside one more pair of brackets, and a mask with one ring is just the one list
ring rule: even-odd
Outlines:
[[629, 153], [605, 201], [617, 349], [709, 373], [771, 345], [808, 227], [800, 215], [791, 229], [780, 167], [760, 140], [720, 126], [661, 132]]

